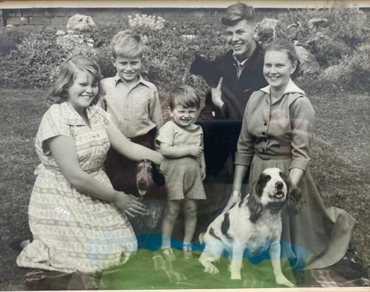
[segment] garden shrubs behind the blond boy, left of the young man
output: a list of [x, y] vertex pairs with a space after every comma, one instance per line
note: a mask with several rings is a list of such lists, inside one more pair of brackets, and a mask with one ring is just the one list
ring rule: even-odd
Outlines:
[[[203, 95], [206, 84], [203, 79], [191, 77], [189, 67], [194, 52], [210, 58], [224, 52], [222, 35], [210, 25], [166, 24], [162, 30], [153, 30], [150, 26], [132, 28], [143, 36], [146, 43], [142, 75], [153, 82], [159, 91], [168, 91], [174, 84], [188, 82]], [[77, 54], [93, 57], [104, 77], [114, 76], [116, 69], [111, 62], [109, 45], [118, 30], [127, 28], [128, 23], [122, 23], [120, 28], [100, 24], [84, 32], [62, 32], [47, 28], [31, 33], [9, 56], [0, 59], [0, 66], [6, 68], [0, 72], [0, 84], [45, 88], [54, 81], [60, 65], [71, 55]], [[189, 35], [189, 32], [196, 34]]]

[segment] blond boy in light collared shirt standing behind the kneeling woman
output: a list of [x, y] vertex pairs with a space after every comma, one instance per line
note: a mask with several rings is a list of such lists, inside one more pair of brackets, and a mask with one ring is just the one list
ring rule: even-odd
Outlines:
[[[111, 50], [117, 74], [101, 81], [105, 94], [100, 106], [111, 114], [123, 135], [155, 149], [155, 137], [163, 118], [157, 88], [140, 76], [144, 52], [141, 36], [131, 30], [120, 31], [111, 40]], [[108, 151], [106, 173], [115, 189], [119, 188], [122, 175], [127, 175], [120, 173], [127, 163], [114, 150]]]

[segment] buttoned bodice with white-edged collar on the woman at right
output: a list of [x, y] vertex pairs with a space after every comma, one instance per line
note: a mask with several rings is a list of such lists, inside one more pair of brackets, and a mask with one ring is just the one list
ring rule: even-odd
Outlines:
[[271, 104], [270, 87], [256, 91], [245, 108], [235, 164], [250, 166], [253, 156], [289, 159], [303, 171], [310, 162], [315, 112], [305, 93], [291, 80], [283, 96]]

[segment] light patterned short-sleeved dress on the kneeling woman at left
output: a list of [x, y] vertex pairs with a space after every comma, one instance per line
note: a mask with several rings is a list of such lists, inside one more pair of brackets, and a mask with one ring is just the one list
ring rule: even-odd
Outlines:
[[35, 142], [42, 164], [35, 174], [28, 208], [33, 242], [18, 256], [18, 266], [65, 272], [95, 272], [127, 260], [137, 249], [128, 218], [111, 203], [74, 189], [52, 157], [45, 141], [73, 137], [82, 169], [111, 187], [101, 169], [110, 147], [108, 113], [97, 106], [87, 109], [91, 128], [69, 103], [52, 105], [43, 116]]

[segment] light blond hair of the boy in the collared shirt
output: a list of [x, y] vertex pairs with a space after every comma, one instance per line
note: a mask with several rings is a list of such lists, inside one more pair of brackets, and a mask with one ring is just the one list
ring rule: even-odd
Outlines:
[[121, 30], [113, 36], [111, 50], [114, 59], [118, 56], [141, 58], [144, 53], [144, 43], [141, 35], [133, 32], [133, 30]]

